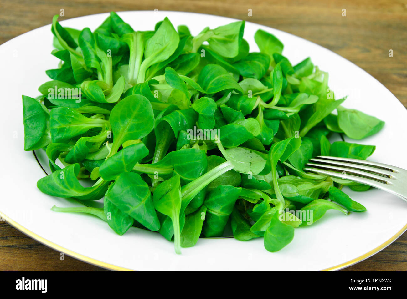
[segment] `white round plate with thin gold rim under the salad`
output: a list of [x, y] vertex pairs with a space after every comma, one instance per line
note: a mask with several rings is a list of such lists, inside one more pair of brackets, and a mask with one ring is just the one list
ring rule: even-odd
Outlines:
[[[205, 26], [215, 28], [236, 21], [226, 17], [172, 11], [130, 11], [119, 13], [137, 30], [151, 30], [168, 16], [174, 26], [186, 24], [193, 35]], [[96, 29], [107, 13], [77, 17], [63, 26]], [[348, 94], [344, 106], [374, 115], [386, 124], [372, 137], [360, 141], [376, 145], [370, 159], [407, 168], [405, 140], [407, 112], [381, 83], [339, 55], [300, 37], [246, 22], [245, 39], [251, 51], [258, 50], [254, 33], [263, 29], [284, 44], [283, 55], [295, 64], [306, 57], [329, 73], [329, 86], [337, 98]], [[295, 238], [281, 251], [270, 253], [263, 238], [241, 242], [233, 238], [199, 239], [193, 248], [174, 253], [172, 242], [157, 233], [132, 227], [118, 236], [97, 217], [51, 212], [50, 207], [74, 206], [66, 199], [40, 192], [36, 183], [44, 176], [32, 152], [24, 152], [21, 95], [37, 96], [37, 88], [49, 81], [45, 70], [59, 62], [50, 55], [50, 25], [44, 26], [0, 46], [0, 85], [2, 107], [0, 131], [0, 211], [25, 234], [44, 244], [112, 269], [135, 270], [322, 270], [339, 269], [359, 262], [383, 249], [407, 228], [407, 203], [381, 190], [352, 192], [352, 199], [368, 211], [344, 216], [328, 211], [310, 227], [295, 229]]]

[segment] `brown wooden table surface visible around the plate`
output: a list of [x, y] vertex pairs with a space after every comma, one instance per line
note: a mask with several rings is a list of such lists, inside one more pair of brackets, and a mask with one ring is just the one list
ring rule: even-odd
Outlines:
[[[274, 27], [313, 41], [359, 65], [407, 107], [407, 0], [1, 0], [0, 44], [50, 24], [60, 9], [65, 10], [65, 18], [109, 11], [193, 11]], [[249, 9], [252, 16], [248, 16]], [[342, 16], [343, 9], [346, 17]], [[389, 57], [390, 49], [393, 57]], [[345, 271], [406, 271], [406, 255], [407, 233]], [[60, 261], [59, 252], [4, 222], [0, 222], [0, 267], [2, 270], [103, 270], [70, 257]]]

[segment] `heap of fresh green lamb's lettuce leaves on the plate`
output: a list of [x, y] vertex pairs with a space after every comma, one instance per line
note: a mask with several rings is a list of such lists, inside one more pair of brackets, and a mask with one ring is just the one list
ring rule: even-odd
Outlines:
[[375, 146], [344, 136], [384, 122], [342, 106], [328, 74], [310, 58], [292, 65], [276, 36], [258, 30], [250, 52], [244, 21], [193, 36], [168, 18], [136, 31], [112, 12], [93, 32], [57, 19], [61, 62], [40, 96], [22, 96], [24, 150], [44, 149], [52, 171], [37, 187], [78, 203], [51, 210], [96, 215], [119, 235], [158, 231], [176, 253], [228, 235], [275, 252], [327, 210], [366, 211], [342, 189], [369, 186], [303, 168], [317, 155], [366, 159]]

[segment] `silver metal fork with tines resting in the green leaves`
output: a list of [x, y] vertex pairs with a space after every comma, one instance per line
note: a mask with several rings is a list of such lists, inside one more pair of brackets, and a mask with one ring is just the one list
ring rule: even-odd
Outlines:
[[320, 175], [369, 185], [407, 201], [407, 170], [387, 164], [330, 156], [317, 156], [304, 167]]

